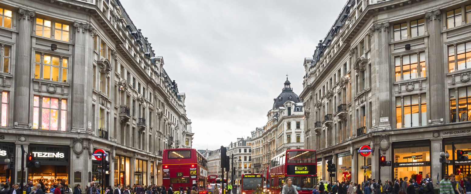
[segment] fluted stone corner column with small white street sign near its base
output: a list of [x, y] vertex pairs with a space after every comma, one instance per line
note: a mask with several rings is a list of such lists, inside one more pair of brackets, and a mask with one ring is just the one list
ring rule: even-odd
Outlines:
[[[372, 87], [373, 96], [376, 96], [376, 103], [372, 103], [374, 107], [372, 118], [375, 120], [375, 127], [378, 130], [391, 129], [391, 65], [390, 65], [390, 47], [389, 47], [389, 23], [374, 24], [368, 34], [372, 36], [372, 79], [375, 83]], [[387, 120], [385, 122], [381, 122]]]

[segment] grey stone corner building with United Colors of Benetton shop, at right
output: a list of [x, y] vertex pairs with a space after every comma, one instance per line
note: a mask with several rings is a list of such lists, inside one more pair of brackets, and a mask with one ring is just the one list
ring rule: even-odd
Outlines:
[[[334, 179], [355, 183], [470, 176], [469, 162], [439, 163], [452, 142], [471, 154], [470, 29], [469, 0], [348, 0], [304, 60], [305, 147], [317, 150], [318, 178], [327, 160]], [[381, 155], [392, 165], [380, 171]]]

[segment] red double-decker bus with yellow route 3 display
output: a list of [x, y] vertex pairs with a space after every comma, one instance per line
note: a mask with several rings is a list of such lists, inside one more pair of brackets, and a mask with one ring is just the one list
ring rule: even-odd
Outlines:
[[284, 180], [292, 179], [292, 185], [300, 194], [312, 193], [317, 184], [316, 151], [309, 149], [289, 149], [271, 159], [268, 178], [271, 194], [281, 193]]

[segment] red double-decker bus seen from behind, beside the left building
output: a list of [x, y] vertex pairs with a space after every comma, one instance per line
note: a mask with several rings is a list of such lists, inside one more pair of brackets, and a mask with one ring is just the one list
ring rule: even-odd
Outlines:
[[[208, 170], [206, 159], [196, 149], [178, 148], [163, 150], [162, 184], [187, 189], [197, 184], [200, 194], [206, 194]], [[174, 189], [178, 191], [178, 189]]]

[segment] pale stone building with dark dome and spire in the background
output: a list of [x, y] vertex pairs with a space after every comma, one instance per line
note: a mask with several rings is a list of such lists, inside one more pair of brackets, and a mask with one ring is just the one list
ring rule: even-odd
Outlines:
[[252, 131], [252, 172], [266, 172], [272, 157], [288, 150], [304, 148], [303, 102], [286, 78], [282, 92], [273, 99], [268, 122]]

